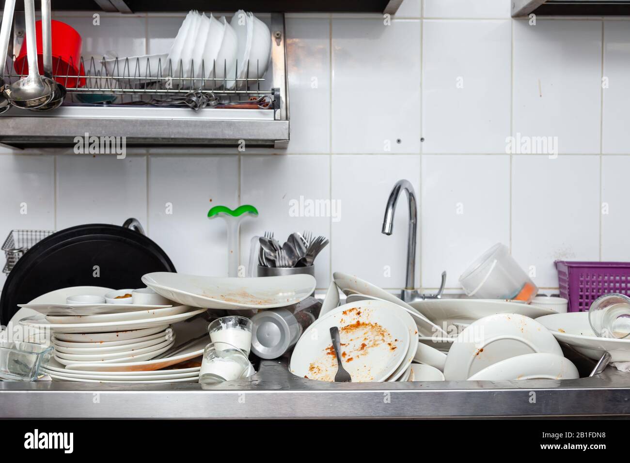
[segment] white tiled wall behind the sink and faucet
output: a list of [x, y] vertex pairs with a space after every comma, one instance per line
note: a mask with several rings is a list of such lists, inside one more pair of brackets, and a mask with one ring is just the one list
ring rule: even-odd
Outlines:
[[[168, 52], [183, 14], [63, 13], [84, 50]], [[253, 234], [331, 237], [317, 261], [386, 288], [404, 284], [404, 195], [381, 234], [389, 190], [420, 206], [416, 284], [448, 287], [501, 241], [546, 289], [553, 261], [630, 260], [629, 18], [510, 18], [509, 0], [404, 0], [377, 14], [287, 15], [291, 138], [286, 152], [216, 149], [113, 156], [0, 155], [0, 237], [13, 228], [120, 224], [135, 216], [181, 272], [226, 274], [212, 205], [252, 203]], [[506, 151], [507, 137], [557, 138], [559, 155]], [[295, 217], [331, 201], [338, 217]], [[27, 214], [23, 214], [24, 205]], [[171, 209], [169, 209], [169, 206]], [[171, 214], [172, 212], [172, 214]], [[304, 215], [304, 214], [302, 214]]]

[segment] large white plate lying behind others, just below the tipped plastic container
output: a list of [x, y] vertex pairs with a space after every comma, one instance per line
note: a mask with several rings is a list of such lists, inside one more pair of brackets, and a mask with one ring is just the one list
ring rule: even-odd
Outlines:
[[410, 302], [410, 306], [439, 326], [471, 324], [494, 314], [520, 314], [537, 318], [556, 313], [530, 304], [491, 299], [425, 299]]

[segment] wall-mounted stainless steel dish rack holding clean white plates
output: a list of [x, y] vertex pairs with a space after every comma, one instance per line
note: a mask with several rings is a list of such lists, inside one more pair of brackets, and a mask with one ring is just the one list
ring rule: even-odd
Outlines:
[[[20, 28], [18, 17], [14, 31]], [[264, 76], [258, 62], [249, 62], [247, 69], [237, 63], [228, 72], [225, 63], [174, 66], [166, 56], [82, 57], [74, 75], [53, 69], [55, 79], [66, 84], [64, 105], [46, 112], [7, 111], [0, 119], [0, 143], [74, 146], [76, 137], [89, 134], [124, 137], [126, 146], [284, 148], [289, 142], [284, 13], [270, 15], [270, 31], [272, 49]], [[14, 62], [5, 69], [11, 71], [6, 76], [11, 82], [26, 74]]]

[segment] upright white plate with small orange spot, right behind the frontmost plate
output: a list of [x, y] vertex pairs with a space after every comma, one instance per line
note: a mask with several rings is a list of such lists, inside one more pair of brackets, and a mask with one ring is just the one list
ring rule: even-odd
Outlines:
[[455, 338], [444, 364], [444, 376], [449, 381], [468, 379], [493, 363], [536, 352], [563, 355], [553, 334], [530, 317], [483, 317]]

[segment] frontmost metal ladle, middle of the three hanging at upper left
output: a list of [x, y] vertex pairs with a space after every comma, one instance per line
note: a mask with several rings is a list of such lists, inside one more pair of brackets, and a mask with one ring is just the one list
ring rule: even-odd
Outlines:
[[55, 82], [40, 76], [37, 64], [37, 36], [35, 33], [35, 3], [24, 0], [26, 22], [26, 55], [28, 76], [4, 89], [6, 98], [16, 108], [33, 109], [47, 105], [55, 94]]

